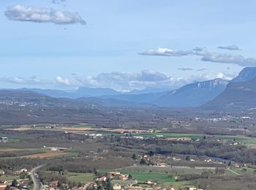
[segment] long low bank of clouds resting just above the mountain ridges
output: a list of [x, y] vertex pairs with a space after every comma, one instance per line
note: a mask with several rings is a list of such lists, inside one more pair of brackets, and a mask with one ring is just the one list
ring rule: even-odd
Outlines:
[[143, 70], [141, 72], [104, 72], [96, 76], [72, 75], [69, 79], [62, 77], [56, 78], [56, 81], [64, 86], [90, 86], [101, 88], [113, 88], [117, 91], [141, 90], [144, 88], [161, 88], [173, 90], [188, 83], [198, 81], [212, 80], [214, 78], [232, 79], [236, 75], [219, 73], [201, 73], [200, 75], [191, 75], [188, 77], [171, 77], [161, 72], [153, 70]]

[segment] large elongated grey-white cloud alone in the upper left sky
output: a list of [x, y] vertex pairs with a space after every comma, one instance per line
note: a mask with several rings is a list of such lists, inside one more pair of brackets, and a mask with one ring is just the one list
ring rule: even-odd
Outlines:
[[55, 9], [45, 9], [37, 7], [24, 7], [16, 4], [7, 7], [5, 16], [10, 20], [27, 21], [35, 23], [56, 23], [73, 24], [80, 23], [86, 25], [86, 21], [80, 18], [78, 13], [59, 11]]

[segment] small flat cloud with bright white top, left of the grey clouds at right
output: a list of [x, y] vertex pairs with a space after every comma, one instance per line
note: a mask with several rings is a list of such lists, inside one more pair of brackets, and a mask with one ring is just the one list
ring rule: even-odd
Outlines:
[[184, 50], [171, 50], [167, 48], [159, 47], [156, 50], [147, 50], [146, 52], [139, 53], [143, 56], [188, 56], [191, 52], [190, 51], [184, 51]]

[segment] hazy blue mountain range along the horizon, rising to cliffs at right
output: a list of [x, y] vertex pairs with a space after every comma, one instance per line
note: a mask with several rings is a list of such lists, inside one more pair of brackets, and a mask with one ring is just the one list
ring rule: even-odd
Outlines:
[[[146, 88], [142, 91], [122, 93], [111, 88], [81, 87], [77, 91], [20, 88], [9, 92], [43, 94], [54, 98], [75, 99], [80, 102], [101, 104], [108, 107], [159, 106], [159, 107], [202, 107], [203, 109], [231, 109], [252, 107], [256, 102], [256, 67], [244, 68], [233, 80], [214, 79], [188, 84], [170, 91]], [[1, 94], [7, 90], [1, 90]], [[19, 94], [19, 93], [18, 93]], [[6, 94], [5, 94], [6, 95]], [[13, 95], [13, 94], [12, 94]], [[20, 96], [20, 94], [19, 94]], [[33, 95], [34, 96], [34, 95]], [[251, 103], [250, 103], [251, 102]], [[255, 103], [256, 107], [256, 103]]]

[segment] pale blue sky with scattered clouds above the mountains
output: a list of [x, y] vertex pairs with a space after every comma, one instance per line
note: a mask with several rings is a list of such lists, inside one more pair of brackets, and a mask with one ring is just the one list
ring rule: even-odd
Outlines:
[[0, 88], [131, 91], [256, 66], [256, 1], [0, 1]]

